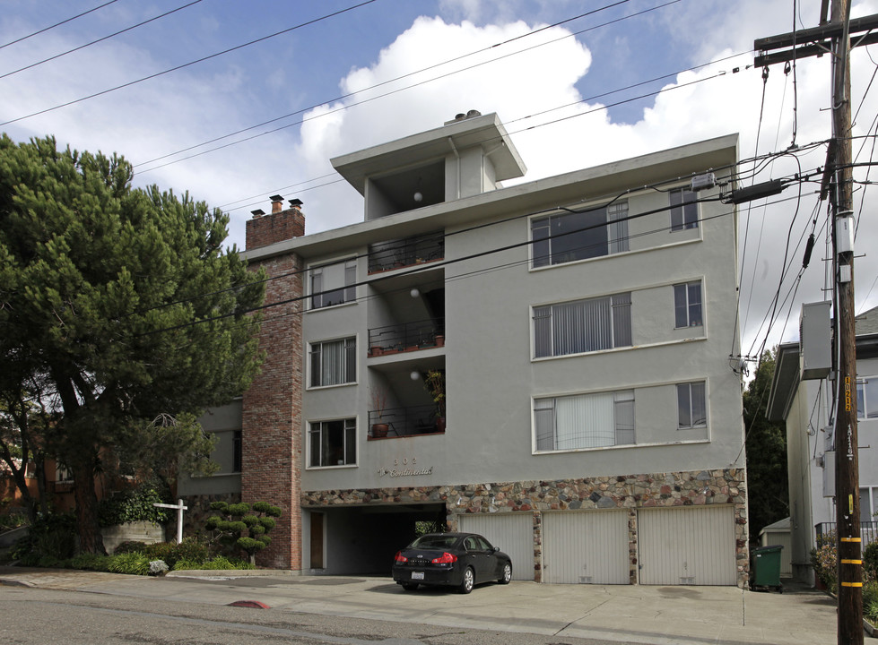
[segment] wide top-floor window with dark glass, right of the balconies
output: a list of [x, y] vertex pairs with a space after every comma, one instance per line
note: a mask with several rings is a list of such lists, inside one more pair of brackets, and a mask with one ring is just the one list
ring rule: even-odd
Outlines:
[[531, 220], [534, 267], [628, 251], [628, 202]]

